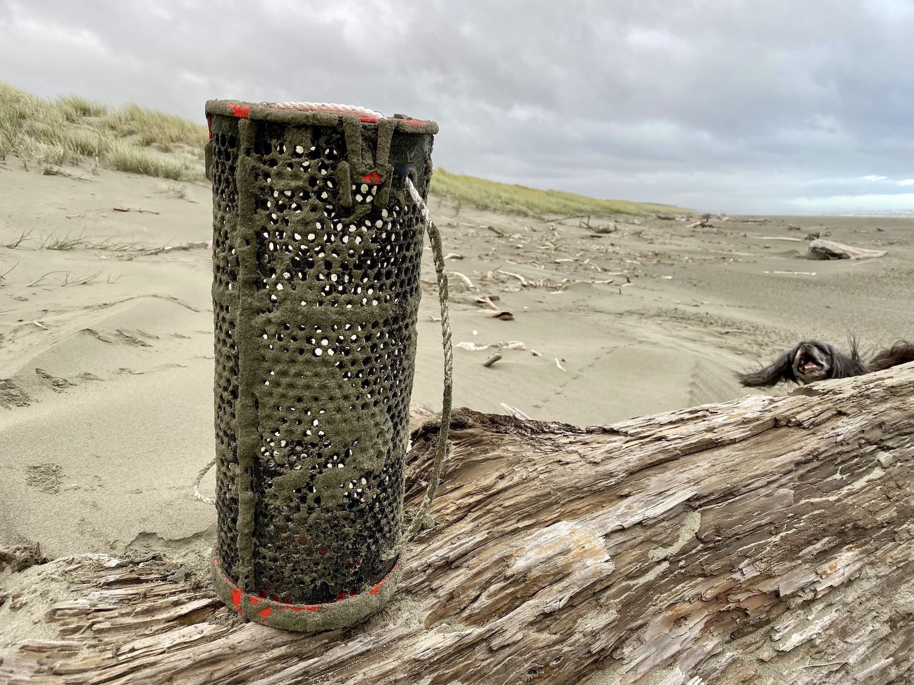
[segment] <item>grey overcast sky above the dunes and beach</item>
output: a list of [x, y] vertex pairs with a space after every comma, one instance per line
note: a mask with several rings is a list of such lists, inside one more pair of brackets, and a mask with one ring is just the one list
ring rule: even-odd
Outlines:
[[914, 209], [914, 0], [0, 0], [0, 79], [438, 121], [437, 166], [707, 211]]

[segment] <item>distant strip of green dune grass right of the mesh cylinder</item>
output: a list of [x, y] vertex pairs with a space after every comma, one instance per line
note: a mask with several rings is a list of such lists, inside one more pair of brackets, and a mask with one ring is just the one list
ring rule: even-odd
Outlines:
[[525, 185], [503, 184], [476, 176], [452, 174], [441, 167], [436, 168], [431, 176], [431, 193], [450, 196], [479, 209], [527, 216], [609, 216], [688, 211], [672, 205], [601, 200], [561, 190], [540, 190]]

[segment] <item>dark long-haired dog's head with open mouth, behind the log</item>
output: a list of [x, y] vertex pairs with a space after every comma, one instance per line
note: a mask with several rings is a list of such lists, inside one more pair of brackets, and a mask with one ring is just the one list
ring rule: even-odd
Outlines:
[[807, 340], [799, 342], [760, 371], [737, 376], [746, 387], [767, 387], [782, 382], [806, 384], [861, 374], [866, 374], [866, 368], [860, 361], [856, 341], [851, 342], [850, 356], [845, 356], [827, 342]]

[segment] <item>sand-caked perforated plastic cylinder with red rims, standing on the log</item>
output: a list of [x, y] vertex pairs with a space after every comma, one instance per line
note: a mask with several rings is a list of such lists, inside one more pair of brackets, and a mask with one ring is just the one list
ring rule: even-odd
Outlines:
[[218, 593], [355, 622], [399, 577], [433, 122], [207, 102]]

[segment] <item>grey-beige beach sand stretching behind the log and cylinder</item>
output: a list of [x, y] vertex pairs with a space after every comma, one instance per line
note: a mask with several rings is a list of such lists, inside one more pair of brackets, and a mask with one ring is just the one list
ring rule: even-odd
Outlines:
[[[23, 230], [146, 248], [206, 241], [207, 185], [188, 184], [184, 199], [166, 185], [0, 165], [0, 243]], [[734, 372], [801, 338], [845, 346], [853, 332], [877, 346], [914, 336], [914, 220], [734, 217], [689, 228], [653, 216], [594, 217], [591, 226], [616, 227], [595, 236], [576, 220], [550, 224], [441, 198], [430, 210], [446, 251], [462, 256], [449, 269], [477, 289], [452, 279], [454, 342], [526, 347], [502, 351], [489, 367], [494, 350], [455, 350], [455, 406], [503, 413], [505, 403], [534, 418], [607, 424], [746, 395]], [[812, 230], [887, 256], [802, 259]], [[133, 255], [36, 247], [0, 248], [0, 274], [16, 265], [0, 286], [0, 543], [38, 541], [51, 557], [151, 550], [199, 558], [216, 521], [191, 486], [213, 454], [208, 250], [125, 258]], [[426, 256], [423, 279], [432, 282]], [[778, 273], [791, 271], [814, 275]], [[87, 284], [63, 284], [96, 273]], [[413, 401], [435, 408], [438, 303], [425, 290]], [[474, 302], [483, 295], [514, 319], [492, 318]], [[212, 491], [211, 475], [203, 487]]]

